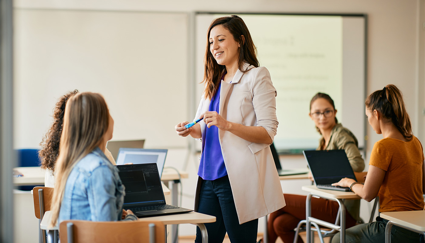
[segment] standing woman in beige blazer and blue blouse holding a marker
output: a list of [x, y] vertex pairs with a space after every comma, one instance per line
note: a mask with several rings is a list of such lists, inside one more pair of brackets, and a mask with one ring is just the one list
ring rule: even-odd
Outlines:
[[[207, 32], [203, 97], [195, 118], [202, 122], [176, 132], [202, 141], [195, 211], [217, 218], [207, 223], [210, 242], [255, 243], [258, 218], [285, 206], [269, 145], [275, 137], [276, 89], [258, 67], [244, 21], [212, 21]], [[196, 231], [195, 242], [201, 243]]]

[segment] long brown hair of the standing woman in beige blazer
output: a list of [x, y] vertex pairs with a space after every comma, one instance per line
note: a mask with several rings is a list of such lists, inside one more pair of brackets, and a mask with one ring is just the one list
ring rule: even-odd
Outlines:
[[[257, 59], [257, 49], [255, 48], [251, 34], [249, 34], [249, 30], [241, 17], [232, 15], [212, 20], [207, 32], [207, 47], [205, 49], [204, 60], [204, 80], [202, 81], [205, 82], [205, 99], [211, 99], [214, 96], [215, 91], [218, 89], [218, 83], [221, 81], [221, 76], [226, 70], [226, 66], [218, 64], [210, 52], [210, 32], [212, 28], [218, 25], [222, 25], [226, 28], [230, 33], [232, 33], [235, 41], [241, 44], [238, 57], [238, 69], [240, 71], [243, 73], [249, 71], [242, 70], [244, 62], [249, 63], [254, 67], [260, 66]], [[242, 38], [242, 36], [244, 36], [244, 38]]]

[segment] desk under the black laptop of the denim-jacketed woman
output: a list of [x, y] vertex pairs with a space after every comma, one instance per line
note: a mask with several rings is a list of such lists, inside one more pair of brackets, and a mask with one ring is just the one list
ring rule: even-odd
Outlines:
[[[184, 214], [172, 214], [155, 217], [139, 218], [142, 221], [161, 221], [165, 225], [167, 224], [180, 224], [180, 223], [191, 223], [197, 225], [201, 229], [202, 242], [208, 242], [208, 232], [205, 228], [204, 223], [215, 222], [215, 217], [207, 214], [201, 214], [197, 212], [190, 212]], [[43, 220], [40, 223], [40, 229], [48, 230], [48, 242], [53, 242], [54, 230], [59, 230], [58, 226], [49, 227], [51, 221], [51, 211], [47, 211], [44, 214]]]

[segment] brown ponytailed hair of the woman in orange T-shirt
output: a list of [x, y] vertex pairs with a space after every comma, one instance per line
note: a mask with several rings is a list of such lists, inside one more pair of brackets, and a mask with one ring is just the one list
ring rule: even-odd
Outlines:
[[403, 137], [413, 136], [412, 124], [405, 108], [403, 95], [395, 85], [388, 84], [384, 89], [373, 92], [366, 99], [365, 105], [369, 110], [376, 109], [382, 117], [391, 120]]

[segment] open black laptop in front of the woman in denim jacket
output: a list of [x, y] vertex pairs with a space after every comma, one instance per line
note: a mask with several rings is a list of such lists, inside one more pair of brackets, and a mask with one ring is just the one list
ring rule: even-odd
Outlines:
[[125, 186], [123, 208], [137, 217], [192, 212], [165, 203], [156, 163], [117, 165], [119, 177]]

